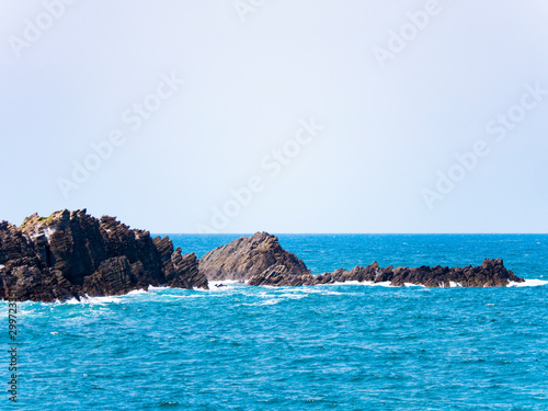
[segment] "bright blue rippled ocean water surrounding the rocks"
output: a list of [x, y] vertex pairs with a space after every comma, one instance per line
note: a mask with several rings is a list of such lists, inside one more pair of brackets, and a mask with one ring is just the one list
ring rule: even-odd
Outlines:
[[[239, 236], [170, 237], [201, 256]], [[316, 274], [503, 258], [548, 281], [546, 235], [278, 237]], [[548, 410], [547, 297], [548, 285], [229, 284], [22, 302], [19, 402], [4, 391], [0, 409]]]

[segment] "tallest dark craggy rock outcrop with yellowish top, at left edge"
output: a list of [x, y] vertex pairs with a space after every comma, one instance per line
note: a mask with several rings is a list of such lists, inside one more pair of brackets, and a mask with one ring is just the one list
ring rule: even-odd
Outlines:
[[122, 295], [153, 286], [207, 288], [195, 254], [169, 238], [83, 210], [0, 222], [0, 298], [55, 301]]

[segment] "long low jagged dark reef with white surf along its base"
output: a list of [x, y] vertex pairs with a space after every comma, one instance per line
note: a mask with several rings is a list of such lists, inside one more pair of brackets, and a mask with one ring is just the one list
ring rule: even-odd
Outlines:
[[321, 275], [294, 275], [284, 267], [275, 266], [269, 271], [254, 275], [250, 285], [270, 286], [299, 286], [319, 285], [345, 282], [369, 282], [386, 283], [393, 286], [404, 286], [406, 284], [424, 285], [426, 287], [502, 287], [510, 282], [522, 283], [523, 278], [517, 277], [504, 267], [501, 259], [486, 259], [480, 266], [467, 267], [442, 267], [439, 265], [430, 267], [397, 267], [388, 266], [381, 269], [377, 262], [372, 265], [356, 266], [351, 271], [336, 270], [332, 273]]

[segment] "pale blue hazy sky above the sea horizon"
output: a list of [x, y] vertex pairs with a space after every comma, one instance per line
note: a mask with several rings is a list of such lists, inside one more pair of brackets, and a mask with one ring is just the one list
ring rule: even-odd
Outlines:
[[0, 2], [0, 220], [548, 232], [545, 0]]

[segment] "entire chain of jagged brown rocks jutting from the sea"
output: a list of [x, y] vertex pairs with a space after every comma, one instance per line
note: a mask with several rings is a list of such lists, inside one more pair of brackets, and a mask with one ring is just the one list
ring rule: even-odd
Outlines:
[[501, 259], [467, 267], [380, 267], [376, 262], [351, 271], [312, 275], [302, 260], [266, 232], [241, 237], [206, 253], [183, 254], [169, 237], [130, 229], [114, 217], [85, 209], [27, 217], [21, 227], [0, 222], [0, 298], [64, 301], [114, 296], [149, 286], [208, 289], [208, 281], [250, 286], [311, 286], [344, 282], [426, 287], [500, 287], [521, 283]]

